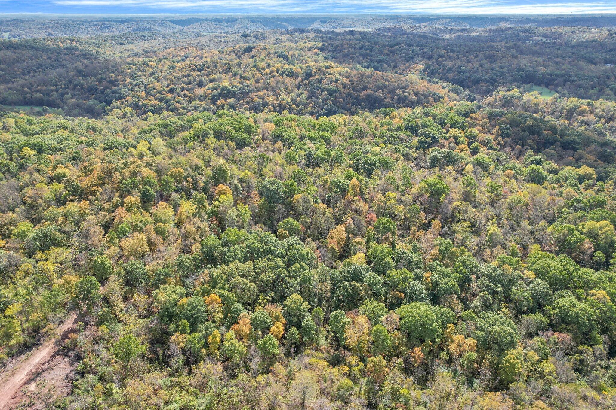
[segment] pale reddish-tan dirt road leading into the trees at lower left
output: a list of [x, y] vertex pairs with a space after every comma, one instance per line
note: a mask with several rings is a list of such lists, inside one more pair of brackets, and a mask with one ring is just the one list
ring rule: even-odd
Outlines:
[[[46, 342], [25, 353], [22, 357], [18, 357], [7, 368], [2, 369], [0, 372], [0, 409], [13, 408], [25, 400], [26, 396], [22, 389], [35, 390], [34, 385], [38, 382], [38, 376], [62, 362], [63, 357], [58, 358], [61, 355], [57, 354], [59, 353], [60, 342], [67, 339], [69, 333], [75, 331], [76, 324], [77, 317], [75, 314], [71, 314], [60, 325], [56, 337], [50, 337]], [[62, 367], [66, 368], [67, 366]], [[55, 376], [62, 376], [62, 379], [66, 376], [66, 374], [58, 374], [62, 372], [52, 371], [51, 373]], [[46, 381], [55, 384], [55, 382], [62, 380]]]

